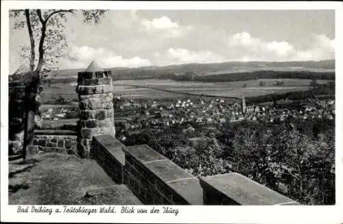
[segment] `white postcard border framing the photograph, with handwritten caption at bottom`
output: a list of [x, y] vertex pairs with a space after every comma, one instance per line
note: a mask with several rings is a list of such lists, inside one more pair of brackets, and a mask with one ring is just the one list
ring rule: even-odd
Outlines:
[[[336, 206], [172, 206], [172, 214], [19, 214], [8, 206], [8, 72], [9, 17], [12, 8], [80, 8], [113, 10], [336, 10]], [[157, 2], [157, 1], [1, 1], [1, 221], [85, 223], [342, 223], [343, 154], [342, 3], [340, 2]], [[49, 206], [57, 208], [60, 206]], [[98, 206], [87, 206], [98, 207]], [[119, 206], [116, 206], [119, 207]], [[141, 206], [136, 206], [139, 208]], [[151, 209], [152, 206], [144, 206]], [[158, 207], [158, 206], [155, 206]], [[161, 206], [160, 206], [161, 207]], [[340, 212], [341, 211], [341, 212]]]

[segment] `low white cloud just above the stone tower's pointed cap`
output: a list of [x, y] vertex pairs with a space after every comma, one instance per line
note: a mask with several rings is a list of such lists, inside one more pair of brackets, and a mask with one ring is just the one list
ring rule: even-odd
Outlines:
[[115, 52], [104, 48], [92, 48], [88, 46], [71, 46], [68, 58], [64, 59], [64, 68], [85, 68], [88, 64], [97, 60], [104, 67], [139, 67], [150, 66], [150, 61], [138, 56], [123, 58]]

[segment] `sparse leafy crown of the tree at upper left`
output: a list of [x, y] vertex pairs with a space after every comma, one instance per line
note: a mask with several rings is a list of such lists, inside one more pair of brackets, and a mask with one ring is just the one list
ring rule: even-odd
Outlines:
[[[22, 64], [29, 65], [25, 82], [36, 81], [47, 77], [51, 70], [58, 69], [60, 58], [67, 56], [67, 40], [65, 23], [68, 14], [80, 14], [84, 23], [98, 23], [106, 10], [10, 10], [10, 18], [14, 19], [16, 29], [26, 28], [30, 45], [21, 46]], [[72, 60], [72, 58], [69, 58]]]

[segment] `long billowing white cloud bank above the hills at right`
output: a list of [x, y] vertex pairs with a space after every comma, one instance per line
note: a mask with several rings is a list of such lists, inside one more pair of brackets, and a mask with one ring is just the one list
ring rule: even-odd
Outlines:
[[219, 51], [169, 48], [164, 53], [155, 52], [154, 64], [327, 60], [333, 59], [335, 53], [335, 40], [323, 34], [312, 35], [311, 45], [304, 49], [297, 49], [286, 41], [264, 41], [247, 32], [226, 36], [224, 40], [225, 45]]

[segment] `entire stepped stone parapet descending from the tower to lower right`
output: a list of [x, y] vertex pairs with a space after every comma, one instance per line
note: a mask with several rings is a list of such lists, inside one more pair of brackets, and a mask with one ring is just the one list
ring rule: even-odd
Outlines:
[[147, 145], [93, 137], [94, 158], [145, 205], [300, 205], [239, 173], [194, 177]]

